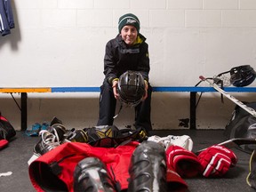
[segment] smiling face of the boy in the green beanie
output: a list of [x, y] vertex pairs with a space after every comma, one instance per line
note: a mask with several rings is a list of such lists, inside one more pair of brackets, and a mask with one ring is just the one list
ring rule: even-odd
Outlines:
[[132, 45], [138, 36], [138, 31], [134, 26], [127, 25], [122, 28], [121, 36], [125, 44]]

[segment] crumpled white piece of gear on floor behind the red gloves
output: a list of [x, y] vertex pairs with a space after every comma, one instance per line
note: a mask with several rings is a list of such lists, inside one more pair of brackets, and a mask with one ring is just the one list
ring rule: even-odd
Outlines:
[[192, 151], [193, 148], [193, 140], [191, 140], [191, 138], [188, 135], [168, 135], [167, 137], [159, 137], [157, 135], [153, 135], [151, 137], [148, 137], [148, 140], [159, 143], [165, 148], [165, 150], [172, 145], [180, 146], [181, 148], [185, 148], [188, 151]]

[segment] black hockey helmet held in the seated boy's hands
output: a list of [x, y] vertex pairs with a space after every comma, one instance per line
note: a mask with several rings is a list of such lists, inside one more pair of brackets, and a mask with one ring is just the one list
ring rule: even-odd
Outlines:
[[124, 72], [119, 77], [117, 92], [122, 105], [137, 106], [145, 93], [143, 76], [138, 71]]

